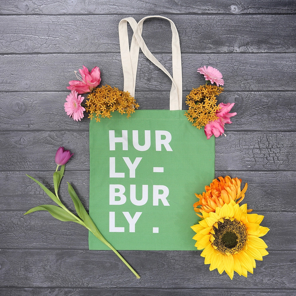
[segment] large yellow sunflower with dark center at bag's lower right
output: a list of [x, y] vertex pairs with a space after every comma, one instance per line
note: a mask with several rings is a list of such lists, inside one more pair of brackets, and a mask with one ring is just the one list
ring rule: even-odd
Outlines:
[[260, 226], [264, 216], [247, 214], [247, 204], [239, 206], [231, 200], [229, 204], [217, 207], [215, 212], [202, 211], [202, 219], [191, 226], [196, 232], [197, 250], [203, 250], [201, 256], [210, 270], [224, 270], [232, 279], [234, 271], [247, 277], [256, 267], [255, 259], [262, 260], [268, 254], [267, 245], [260, 239], [268, 232]]

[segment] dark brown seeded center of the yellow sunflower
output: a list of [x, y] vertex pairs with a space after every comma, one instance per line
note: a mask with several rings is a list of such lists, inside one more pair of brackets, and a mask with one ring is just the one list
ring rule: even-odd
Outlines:
[[223, 254], [235, 254], [240, 252], [247, 243], [247, 228], [238, 220], [223, 218], [223, 222], [217, 222], [218, 227], [213, 226], [215, 238], [213, 245]]

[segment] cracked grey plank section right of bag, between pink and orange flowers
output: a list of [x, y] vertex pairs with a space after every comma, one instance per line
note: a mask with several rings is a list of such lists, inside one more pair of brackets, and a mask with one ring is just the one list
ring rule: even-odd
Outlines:
[[216, 170], [295, 170], [293, 132], [227, 132], [216, 138]]

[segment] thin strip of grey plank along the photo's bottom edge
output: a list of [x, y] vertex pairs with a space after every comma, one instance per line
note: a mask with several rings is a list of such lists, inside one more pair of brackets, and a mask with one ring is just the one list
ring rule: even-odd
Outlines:
[[294, 289], [0, 288], [2, 296], [294, 296]]

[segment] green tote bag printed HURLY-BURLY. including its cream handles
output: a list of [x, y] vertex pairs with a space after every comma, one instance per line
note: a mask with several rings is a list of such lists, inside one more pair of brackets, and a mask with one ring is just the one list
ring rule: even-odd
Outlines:
[[[89, 214], [117, 250], [196, 250], [194, 193], [215, 174], [215, 139], [189, 123], [182, 111], [179, 36], [172, 29], [173, 75], [153, 56], [142, 36], [144, 17], [119, 23], [124, 91], [135, 94], [139, 48], [172, 81], [170, 110], [136, 110], [130, 118], [90, 121]], [[133, 30], [128, 43], [127, 23]], [[89, 233], [90, 250], [108, 250]]]

